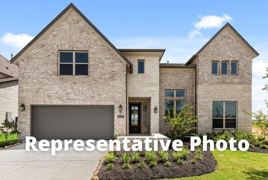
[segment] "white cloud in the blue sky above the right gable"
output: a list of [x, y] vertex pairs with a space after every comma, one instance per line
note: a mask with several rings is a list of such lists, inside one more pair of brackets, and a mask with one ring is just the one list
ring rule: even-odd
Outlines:
[[195, 30], [190, 31], [189, 38], [194, 38], [196, 35], [202, 35], [199, 31], [200, 29], [207, 29], [207, 28], [221, 28], [223, 23], [226, 21], [230, 21], [233, 18], [224, 14], [222, 17], [220, 16], [198, 16], [200, 19], [199, 22], [195, 22]]

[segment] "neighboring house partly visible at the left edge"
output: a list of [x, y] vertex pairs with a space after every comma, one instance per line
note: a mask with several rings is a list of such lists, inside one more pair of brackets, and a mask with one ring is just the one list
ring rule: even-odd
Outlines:
[[0, 126], [6, 117], [12, 121], [17, 116], [18, 66], [0, 55]]

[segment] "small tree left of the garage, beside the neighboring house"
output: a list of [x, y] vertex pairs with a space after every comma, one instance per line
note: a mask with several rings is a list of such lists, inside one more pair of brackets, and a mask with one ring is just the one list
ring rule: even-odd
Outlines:
[[6, 119], [4, 122], [1, 123], [2, 126], [0, 127], [0, 132], [3, 134], [3, 137], [8, 142], [11, 138], [16, 136], [16, 134], [20, 134], [18, 131], [13, 131], [13, 129], [16, 129], [17, 125], [15, 125], [12, 122], [9, 122], [8, 119]]

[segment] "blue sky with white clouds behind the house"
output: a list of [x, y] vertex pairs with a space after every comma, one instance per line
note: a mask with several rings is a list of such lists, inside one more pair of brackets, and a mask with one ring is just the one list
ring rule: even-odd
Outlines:
[[226, 22], [260, 54], [253, 59], [252, 109], [266, 111], [268, 1], [0, 1], [0, 54], [10, 59], [73, 3], [117, 48], [166, 49], [185, 63]]

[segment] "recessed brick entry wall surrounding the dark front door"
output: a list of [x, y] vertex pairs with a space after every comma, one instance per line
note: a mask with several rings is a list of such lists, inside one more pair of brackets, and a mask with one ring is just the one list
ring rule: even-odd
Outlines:
[[[128, 98], [128, 103], [141, 103], [141, 133], [142, 134], [150, 134], [150, 120], [151, 120], [151, 98]], [[143, 124], [143, 106], [142, 104], [147, 104], [147, 124]]]

